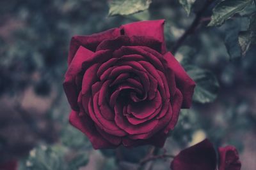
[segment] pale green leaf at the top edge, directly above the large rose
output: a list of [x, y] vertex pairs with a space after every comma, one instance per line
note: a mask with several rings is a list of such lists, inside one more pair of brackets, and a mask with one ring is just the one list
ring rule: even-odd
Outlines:
[[109, 16], [131, 15], [147, 10], [151, 0], [111, 0], [109, 1]]

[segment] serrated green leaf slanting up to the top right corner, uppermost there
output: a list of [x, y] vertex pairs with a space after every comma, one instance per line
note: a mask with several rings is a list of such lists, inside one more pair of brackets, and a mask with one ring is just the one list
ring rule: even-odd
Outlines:
[[218, 26], [234, 14], [242, 11], [252, 0], [225, 0], [218, 3], [212, 10], [211, 22], [208, 26]]

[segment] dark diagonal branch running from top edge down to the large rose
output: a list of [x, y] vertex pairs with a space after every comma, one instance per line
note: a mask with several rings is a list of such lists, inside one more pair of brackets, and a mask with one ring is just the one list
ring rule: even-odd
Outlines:
[[202, 22], [203, 14], [207, 10], [207, 8], [211, 5], [212, 2], [214, 2], [214, 0], [207, 0], [204, 6], [202, 7], [202, 9], [198, 11], [198, 13], [196, 13], [196, 17], [193, 20], [192, 24], [188, 27], [188, 29], [184, 32], [184, 34], [182, 34], [182, 36], [180, 36], [180, 38], [172, 46], [172, 49], [171, 49], [172, 53], [177, 52], [177, 50], [182, 45], [182, 43], [184, 43], [186, 38], [188, 38], [190, 34], [193, 34], [193, 32], [195, 32], [195, 29]]

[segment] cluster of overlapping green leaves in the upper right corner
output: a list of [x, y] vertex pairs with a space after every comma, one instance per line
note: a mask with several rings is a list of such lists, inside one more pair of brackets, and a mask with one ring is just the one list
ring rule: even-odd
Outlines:
[[[251, 6], [253, 6], [253, 8]], [[222, 25], [226, 20], [235, 17], [234, 15], [236, 13], [240, 13], [242, 17], [250, 18], [250, 25], [245, 31], [239, 29], [239, 27], [241, 28], [241, 25], [243, 25], [243, 21], [242, 23], [237, 21], [236, 24], [232, 22], [229, 24], [230, 29], [227, 30], [225, 44], [231, 59], [245, 56], [251, 43], [255, 43], [255, 15], [253, 16], [253, 13], [256, 12], [255, 6], [255, 1], [252, 0], [225, 0], [218, 3], [212, 10], [209, 26]], [[243, 15], [243, 13], [247, 14]], [[239, 17], [232, 19], [235, 20], [234, 22], [241, 20]], [[238, 45], [240, 45], [240, 48]]]

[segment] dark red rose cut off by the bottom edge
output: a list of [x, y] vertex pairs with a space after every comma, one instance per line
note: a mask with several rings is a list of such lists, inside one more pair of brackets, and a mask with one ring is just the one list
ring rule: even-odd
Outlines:
[[[234, 146], [219, 148], [219, 170], [240, 170], [241, 162]], [[212, 143], [204, 141], [182, 150], [172, 161], [172, 170], [216, 170], [216, 152]]]

